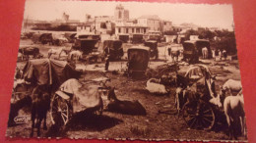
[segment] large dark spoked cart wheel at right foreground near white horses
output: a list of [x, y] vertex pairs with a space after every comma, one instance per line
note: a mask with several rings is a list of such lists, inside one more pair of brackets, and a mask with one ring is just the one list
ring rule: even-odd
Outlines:
[[183, 106], [183, 119], [189, 128], [211, 129], [215, 123], [212, 107], [202, 100], [187, 102]]

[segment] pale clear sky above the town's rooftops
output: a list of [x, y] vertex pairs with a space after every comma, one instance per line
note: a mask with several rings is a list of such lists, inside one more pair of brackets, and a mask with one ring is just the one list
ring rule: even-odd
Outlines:
[[86, 14], [113, 16], [116, 5], [129, 10], [130, 19], [143, 15], [158, 15], [173, 24], [192, 23], [204, 27], [232, 28], [233, 11], [230, 4], [173, 4], [149, 2], [103, 2], [76, 0], [27, 0], [25, 19], [54, 21], [65, 12], [70, 20], [85, 22]]

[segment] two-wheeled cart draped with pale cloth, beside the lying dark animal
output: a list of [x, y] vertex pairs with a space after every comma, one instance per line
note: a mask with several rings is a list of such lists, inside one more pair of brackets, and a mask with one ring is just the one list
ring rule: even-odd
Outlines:
[[50, 104], [52, 124], [66, 125], [78, 113], [101, 115], [101, 96], [108, 90], [106, 81], [109, 81], [109, 78], [102, 77], [86, 82], [73, 78], [65, 81], [55, 92]]

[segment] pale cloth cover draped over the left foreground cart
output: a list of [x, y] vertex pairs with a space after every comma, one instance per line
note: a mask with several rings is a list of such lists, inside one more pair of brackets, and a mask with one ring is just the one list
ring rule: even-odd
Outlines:
[[73, 112], [78, 113], [88, 108], [96, 107], [100, 102], [100, 95], [97, 92], [98, 85], [83, 84], [75, 78], [68, 79], [61, 86], [64, 93], [72, 94]]

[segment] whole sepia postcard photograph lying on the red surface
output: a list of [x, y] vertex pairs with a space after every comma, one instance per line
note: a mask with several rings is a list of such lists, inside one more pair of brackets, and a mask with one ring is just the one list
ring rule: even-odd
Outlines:
[[26, 0], [6, 137], [247, 142], [231, 4]]

